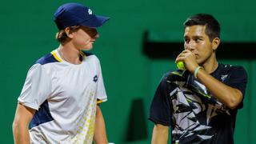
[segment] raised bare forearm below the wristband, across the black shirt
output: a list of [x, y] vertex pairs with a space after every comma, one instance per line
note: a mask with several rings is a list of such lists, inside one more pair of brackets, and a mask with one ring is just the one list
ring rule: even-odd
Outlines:
[[226, 84], [219, 82], [216, 78], [207, 74], [205, 70], [200, 69], [197, 74], [198, 79], [204, 84], [207, 90], [220, 102], [234, 109], [242, 101], [242, 93], [240, 90], [234, 89]]

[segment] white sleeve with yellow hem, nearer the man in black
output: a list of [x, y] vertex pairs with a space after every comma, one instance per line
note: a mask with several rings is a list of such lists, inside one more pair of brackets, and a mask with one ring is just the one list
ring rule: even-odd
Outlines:
[[100, 65], [100, 62], [97, 58], [97, 70], [98, 70], [98, 82], [97, 82], [97, 88], [96, 88], [96, 97], [97, 97], [97, 103], [106, 102], [107, 96], [106, 96], [106, 90], [104, 86], [104, 81], [102, 77], [102, 68]]

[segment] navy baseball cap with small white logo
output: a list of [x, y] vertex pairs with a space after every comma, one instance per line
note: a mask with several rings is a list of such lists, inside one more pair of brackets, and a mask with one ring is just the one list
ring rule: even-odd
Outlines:
[[66, 3], [58, 7], [54, 13], [54, 22], [58, 30], [64, 30], [69, 26], [87, 26], [97, 28], [110, 18], [93, 14], [89, 7], [79, 3]]

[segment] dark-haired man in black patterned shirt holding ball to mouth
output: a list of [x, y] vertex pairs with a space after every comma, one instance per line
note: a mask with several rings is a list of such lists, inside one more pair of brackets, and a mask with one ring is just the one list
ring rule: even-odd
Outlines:
[[184, 22], [184, 48], [176, 62], [186, 70], [164, 75], [150, 107], [152, 143], [234, 143], [247, 75], [242, 66], [218, 63], [220, 26], [210, 14]]

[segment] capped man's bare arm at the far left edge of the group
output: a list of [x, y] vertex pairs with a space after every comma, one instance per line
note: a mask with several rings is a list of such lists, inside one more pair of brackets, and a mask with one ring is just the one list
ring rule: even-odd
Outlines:
[[30, 143], [28, 126], [33, 118], [35, 110], [18, 103], [13, 122], [13, 134], [15, 144]]

